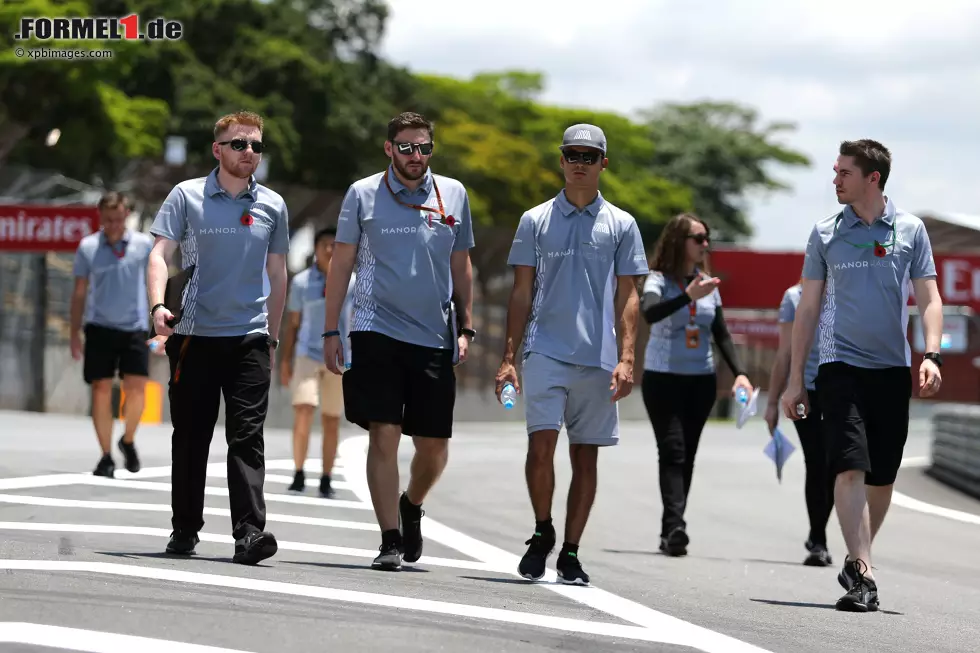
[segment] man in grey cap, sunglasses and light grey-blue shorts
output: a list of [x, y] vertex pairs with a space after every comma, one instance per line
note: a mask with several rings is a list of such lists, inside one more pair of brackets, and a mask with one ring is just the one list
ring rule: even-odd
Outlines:
[[[633, 389], [637, 284], [649, 269], [636, 220], [599, 192], [609, 164], [602, 130], [573, 125], [559, 149], [565, 188], [521, 216], [511, 246], [514, 286], [496, 391], [499, 400], [512, 383], [524, 397], [527, 421], [525, 476], [535, 529], [518, 571], [540, 580], [556, 544], [554, 455], [565, 426], [572, 481], [556, 566], [561, 582], [588, 585], [579, 541], [595, 499], [599, 447], [618, 443], [616, 402]], [[522, 337], [523, 388], [514, 361]]]

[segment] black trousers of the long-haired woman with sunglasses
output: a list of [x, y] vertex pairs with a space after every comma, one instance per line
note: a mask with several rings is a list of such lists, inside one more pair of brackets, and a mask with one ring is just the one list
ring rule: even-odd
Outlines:
[[714, 374], [643, 373], [643, 404], [653, 424], [660, 457], [660, 537], [687, 528], [684, 511], [691, 492], [694, 458], [717, 394]]

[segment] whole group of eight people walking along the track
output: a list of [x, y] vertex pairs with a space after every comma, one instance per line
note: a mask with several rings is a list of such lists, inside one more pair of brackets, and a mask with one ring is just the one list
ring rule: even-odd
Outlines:
[[[403, 113], [388, 125], [390, 165], [349, 187], [336, 229], [316, 234], [309, 268], [289, 287], [287, 208], [254, 178], [265, 148], [262, 127], [248, 112], [217, 122], [218, 165], [173, 189], [150, 228], [152, 244], [113, 230], [105, 214], [102, 233], [83, 241], [76, 275], [93, 279], [95, 301], [86, 326], [86, 380], [98, 397], [96, 384], [111, 383], [117, 371], [138, 388], [147, 345], [163, 344], [173, 423], [167, 551], [174, 554], [193, 553], [199, 542], [208, 449], [224, 395], [234, 560], [255, 564], [277, 551], [265, 524], [263, 429], [282, 333], [279, 372], [294, 407], [290, 489], [307, 485], [303, 465], [317, 407], [324, 433], [318, 486], [325, 498], [335, 495], [331, 469], [341, 415], [367, 430], [366, 476], [381, 531], [372, 566], [399, 569], [422, 556], [422, 506], [446, 467], [453, 435], [455, 367], [466, 362], [477, 337], [469, 197], [459, 181], [430, 169], [432, 124]], [[564, 429], [572, 479], [555, 565], [560, 582], [589, 585], [579, 547], [595, 499], [599, 450], [620, 440], [618, 401], [633, 389], [639, 320], [650, 325], [640, 385], [659, 449], [665, 554], [685, 555], [690, 544], [685, 514], [695, 459], [719, 396], [715, 350], [734, 376], [733, 394], [751, 393], [753, 385], [726, 326], [721, 282], [710, 273], [705, 221], [676, 216], [648, 257], [636, 220], [599, 191], [609, 165], [603, 131], [572, 125], [558, 150], [564, 188], [521, 216], [511, 245], [513, 286], [495, 392], [499, 398], [512, 385], [526, 417], [534, 529], [519, 572], [540, 580], [559, 542], [552, 497]], [[826, 526], [837, 506], [848, 550], [838, 577], [847, 594], [838, 607], [851, 610], [878, 605], [870, 544], [907, 433], [910, 283], [930, 352], [920, 393], [935, 393], [940, 382], [942, 308], [931, 248], [921, 220], [884, 197], [889, 170], [881, 144], [841, 146], [835, 184], [844, 210], [816, 224], [803, 278], [783, 298], [766, 411], [770, 429], [780, 412], [794, 420], [803, 446], [807, 564], [831, 564]], [[171, 279], [178, 248], [182, 272]], [[176, 293], [168, 293], [168, 280], [179, 283]], [[79, 298], [86, 283], [79, 281]], [[125, 310], [109, 303], [125, 295], [121, 288], [134, 296]], [[179, 300], [168, 302], [173, 294]], [[131, 315], [133, 302], [143, 309]], [[152, 320], [152, 334], [140, 313]], [[867, 315], [875, 316], [873, 326]], [[76, 339], [72, 351], [80, 355]], [[103, 449], [95, 473], [111, 476], [111, 419], [107, 426], [104, 415], [103, 405], [93, 408]], [[127, 413], [130, 422], [119, 446], [135, 471], [138, 419]], [[403, 435], [412, 438], [414, 457], [401, 491]]]

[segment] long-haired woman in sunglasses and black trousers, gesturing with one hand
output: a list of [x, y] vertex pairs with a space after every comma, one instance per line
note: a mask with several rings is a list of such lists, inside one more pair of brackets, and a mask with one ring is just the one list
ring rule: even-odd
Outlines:
[[709, 242], [708, 225], [695, 215], [668, 222], [640, 303], [651, 325], [642, 391], [660, 457], [660, 550], [670, 556], [687, 554], [684, 511], [694, 457], [718, 393], [712, 338], [735, 375], [732, 393], [739, 387], [752, 393], [722, 315], [719, 279], [706, 274]]

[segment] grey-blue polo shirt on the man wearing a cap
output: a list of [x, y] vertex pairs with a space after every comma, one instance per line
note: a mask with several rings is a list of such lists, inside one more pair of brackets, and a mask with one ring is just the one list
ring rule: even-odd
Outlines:
[[525, 356], [616, 368], [616, 277], [649, 272], [632, 215], [601, 193], [580, 211], [562, 190], [521, 216], [507, 264], [536, 268]]

